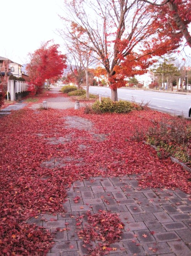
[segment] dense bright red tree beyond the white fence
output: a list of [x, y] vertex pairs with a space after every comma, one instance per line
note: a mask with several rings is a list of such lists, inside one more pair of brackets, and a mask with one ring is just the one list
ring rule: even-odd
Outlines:
[[30, 63], [26, 70], [29, 74], [30, 83], [37, 87], [37, 91], [42, 88], [46, 79], [59, 76], [66, 66], [66, 56], [58, 51], [59, 45], [50, 45], [50, 41], [44, 43], [34, 53], [29, 53]]

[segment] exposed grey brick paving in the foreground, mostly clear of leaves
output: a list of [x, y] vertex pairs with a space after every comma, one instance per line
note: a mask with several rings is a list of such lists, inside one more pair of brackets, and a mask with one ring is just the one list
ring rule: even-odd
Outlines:
[[[77, 203], [74, 198], [78, 196]], [[66, 213], [44, 215], [42, 220], [30, 220], [51, 232], [64, 229], [55, 235], [55, 244], [48, 256], [82, 256], [88, 254], [83, 240], [77, 235], [76, 217], [98, 210], [117, 213], [124, 223], [120, 241], [110, 244], [110, 255], [191, 255], [191, 211], [188, 195], [180, 190], [143, 189], [135, 175], [122, 178], [94, 177], [74, 182], [64, 203]], [[83, 227], [87, 222], [83, 220]], [[92, 246], [95, 246], [92, 243]], [[88, 246], [87, 246], [88, 247]]]

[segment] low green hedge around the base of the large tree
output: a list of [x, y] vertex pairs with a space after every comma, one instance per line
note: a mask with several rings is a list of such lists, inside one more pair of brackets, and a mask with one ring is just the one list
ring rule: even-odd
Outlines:
[[115, 112], [128, 113], [132, 110], [141, 110], [141, 107], [130, 101], [112, 101], [110, 98], [104, 98], [102, 101], [96, 101], [92, 105], [95, 112]]

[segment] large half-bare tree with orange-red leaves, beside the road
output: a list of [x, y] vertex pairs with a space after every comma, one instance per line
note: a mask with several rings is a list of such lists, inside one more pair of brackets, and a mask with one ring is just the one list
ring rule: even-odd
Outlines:
[[180, 46], [181, 35], [171, 33], [159, 15], [159, 7], [149, 3], [71, 0], [65, 1], [65, 7], [68, 17], [64, 19], [75, 32], [75, 40], [86, 47], [89, 40], [89, 50], [104, 66], [114, 101], [126, 77], [145, 73], [154, 56]]

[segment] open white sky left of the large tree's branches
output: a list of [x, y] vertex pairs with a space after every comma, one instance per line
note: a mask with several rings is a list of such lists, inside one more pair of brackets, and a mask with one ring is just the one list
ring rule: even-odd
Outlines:
[[62, 6], [63, 0], [0, 0], [0, 56], [25, 64], [41, 42], [62, 45], [55, 33], [62, 28]]

